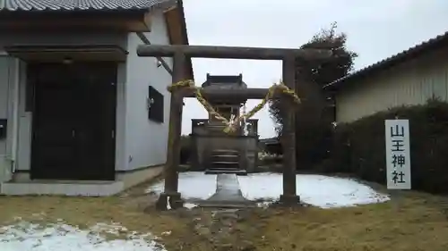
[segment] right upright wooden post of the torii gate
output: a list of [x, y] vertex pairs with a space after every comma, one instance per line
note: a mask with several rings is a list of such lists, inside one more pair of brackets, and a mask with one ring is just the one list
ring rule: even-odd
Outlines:
[[[291, 89], [296, 89], [296, 58], [293, 55], [283, 59], [283, 82]], [[283, 116], [282, 146], [283, 146], [283, 194], [280, 204], [297, 205], [300, 197], [296, 192], [296, 113], [293, 99], [284, 96], [280, 106]]]

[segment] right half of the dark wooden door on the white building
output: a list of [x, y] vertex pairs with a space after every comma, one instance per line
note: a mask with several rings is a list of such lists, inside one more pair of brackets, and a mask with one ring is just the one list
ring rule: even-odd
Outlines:
[[[94, 69], [94, 71], [92, 71]], [[84, 180], [115, 179], [116, 65], [73, 67], [78, 164]]]

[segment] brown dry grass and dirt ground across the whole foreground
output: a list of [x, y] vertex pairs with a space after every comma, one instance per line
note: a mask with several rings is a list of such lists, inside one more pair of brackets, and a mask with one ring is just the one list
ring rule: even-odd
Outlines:
[[[129, 230], [159, 236], [169, 251], [448, 250], [444, 197], [398, 192], [392, 201], [377, 205], [247, 209], [217, 216], [201, 209], [144, 213], [155, 199], [143, 195], [145, 186], [106, 198], [0, 197], [0, 223], [17, 216], [32, 222], [64, 219], [81, 228], [120, 222]], [[45, 214], [39, 218], [36, 213]]]

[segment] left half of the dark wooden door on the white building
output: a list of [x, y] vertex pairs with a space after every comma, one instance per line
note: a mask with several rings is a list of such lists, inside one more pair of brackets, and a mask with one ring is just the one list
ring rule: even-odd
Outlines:
[[67, 180], [75, 173], [73, 82], [66, 76], [62, 64], [28, 68], [34, 87], [31, 179]]

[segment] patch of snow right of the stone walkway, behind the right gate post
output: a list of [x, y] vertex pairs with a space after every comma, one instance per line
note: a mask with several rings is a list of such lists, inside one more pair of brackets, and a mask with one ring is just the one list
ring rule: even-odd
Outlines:
[[[390, 199], [352, 179], [297, 174], [296, 180], [300, 200], [322, 208], [381, 203]], [[238, 182], [243, 196], [248, 200], [275, 201], [283, 193], [281, 173], [238, 176]]]

